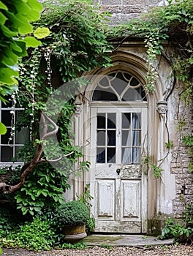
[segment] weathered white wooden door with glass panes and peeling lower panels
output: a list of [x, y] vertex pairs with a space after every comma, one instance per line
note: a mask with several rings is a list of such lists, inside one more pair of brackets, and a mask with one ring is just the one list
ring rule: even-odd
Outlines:
[[147, 181], [141, 168], [147, 108], [91, 108], [91, 193], [96, 232], [146, 231]]

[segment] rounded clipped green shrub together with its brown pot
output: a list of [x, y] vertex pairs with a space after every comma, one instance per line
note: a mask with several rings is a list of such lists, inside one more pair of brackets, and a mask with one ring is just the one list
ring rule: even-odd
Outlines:
[[88, 219], [88, 207], [80, 201], [62, 203], [56, 210], [56, 221], [66, 241], [78, 241], [86, 237]]

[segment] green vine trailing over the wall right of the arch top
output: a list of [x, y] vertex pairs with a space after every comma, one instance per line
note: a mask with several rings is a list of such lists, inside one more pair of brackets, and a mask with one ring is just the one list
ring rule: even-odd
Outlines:
[[[192, 64], [193, 64], [193, 2], [167, 1], [165, 7], [156, 7], [140, 19], [129, 20], [112, 29], [110, 35], [116, 37], [140, 37], [147, 48], [146, 89], [153, 92], [157, 78], [157, 58], [164, 56], [173, 67], [173, 75], [183, 81], [181, 97], [186, 103], [192, 97]], [[124, 39], [122, 39], [124, 42]], [[163, 45], [172, 46], [169, 53]]]

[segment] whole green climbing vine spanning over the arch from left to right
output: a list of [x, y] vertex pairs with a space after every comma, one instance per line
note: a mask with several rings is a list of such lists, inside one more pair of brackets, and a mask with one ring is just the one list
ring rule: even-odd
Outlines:
[[[89, 1], [71, 0], [68, 1], [68, 4], [64, 0], [57, 2], [59, 4], [47, 2], [41, 20], [34, 24], [48, 27], [51, 34], [42, 39], [42, 45], [39, 45], [36, 50], [29, 48], [29, 56], [24, 57], [20, 62], [18, 101], [25, 110], [19, 117], [16, 129], [19, 131], [21, 127], [28, 127], [31, 130], [29, 143], [26, 143], [18, 155], [24, 162], [31, 162], [37, 149], [43, 146], [38, 134], [39, 118], [42, 111], [45, 110], [45, 102], [50, 94], [61, 84], [79, 77], [82, 72], [95, 67], [110, 67], [109, 53], [113, 48], [109, 42], [115, 37], [116, 41], [120, 38], [121, 43], [132, 37], [144, 39], [147, 48], [148, 70], [145, 87], [149, 93], [153, 93], [155, 90], [158, 59], [160, 56], [165, 56], [172, 64], [173, 75], [182, 82], [181, 99], [186, 105], [192, 102], [193, 3], [191, 0], [176, 0], [175, 3], [168, 1], [167, 7], [158, 7], [139, 20], [130, 20], [129, 23], [110, 27], [110, 29], [106, 22], [108, 14], [99, 12], [98, 7], [91, 6]], [[172, 51], [168, 53], [163, 45], [170, 46]], [[67, 94], [70, 94], [70, 91], [67, 91]], [[80, 148], [72, 146], [72, 142], [67, 136], [69, 119], [74, 111], [75, 104], [73, 104], [72, 97], [72, 102], [65, 105], [62, 110], [57, 124], [58, 129], [55, 129], [55, 132], [58, 133], [64, 154], [70, 154], [73, 151], [73, 154], [69, 155], [69, 159], [72, 162], [79, 162], [80, 166], [87, 170], [88, 162], [79, 161], [82, 156]], [[48, 127], [54, 128], [53, 124], [48, 124]], [[50, 148], [50, 151], [53, 151], [54, 159], [56, 153], [54, 143], [52, 147], [53, 149]], [[29, 178], [15, 197], [25, 214], [29, 211], [30, 214], [40, 211], [46, 205], [48, 195], [57, 203], [62, 189], [64, 191], [69, 187], [67, 172], [72, 165], [65, 162], [64, 166], [67, 166], [67, 171], [62, 170], [56, 174], [45, 161], [43, 153], [38, 156], [38, 169], [34, 165], [33, 172], [32, 169], [31, 172], [27, 172]], [[57, 181], [55, 187], [52, 184], [50, 192], [45, 186], [48, 182], [45, 176], [47, 178], [49, 176], [50, 184], [55, 182], [56, 176], [60, 176], [62, 181]], [[36, 202], [34, 202], [34, 192], [32, 192], [34, 187], [36, 195], [41, 195], [41, 199]], [[6, 184], [2, 190], [12, 192], [11, 187], [6, 187]]]

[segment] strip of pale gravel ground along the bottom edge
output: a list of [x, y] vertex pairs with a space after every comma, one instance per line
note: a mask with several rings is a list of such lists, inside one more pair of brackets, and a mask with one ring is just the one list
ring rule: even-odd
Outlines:
[[171, 245], [146, 247], [125, 247], [115, 246], [113, 249], [106, 249], [94, 246], [88, 249], [63, 249], [42, 252], [31, 252], [26, 249], [3, 249], [1, 256], [193, 256], [193, 246]]

